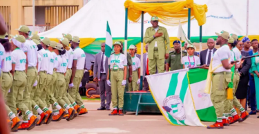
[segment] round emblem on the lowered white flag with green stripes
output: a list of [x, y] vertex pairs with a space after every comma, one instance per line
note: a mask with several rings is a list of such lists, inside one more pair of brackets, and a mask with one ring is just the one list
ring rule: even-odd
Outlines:
[[176, 120], [186, 120], [184, 105], [178, 95], [166, 97], [163, 101], [163, 109]]

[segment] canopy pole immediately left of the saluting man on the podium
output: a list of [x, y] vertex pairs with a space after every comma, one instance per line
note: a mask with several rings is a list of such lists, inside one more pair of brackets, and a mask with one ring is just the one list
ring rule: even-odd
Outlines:
[[140, 90], [142, 90], [142, 88], [143, 88], [143, 80], [144, 80], [144, 78], [143, 78], [143, 30], [144, 29], [144, 12], [142, 11], [141, 12], [141, 57], [140, 57]]

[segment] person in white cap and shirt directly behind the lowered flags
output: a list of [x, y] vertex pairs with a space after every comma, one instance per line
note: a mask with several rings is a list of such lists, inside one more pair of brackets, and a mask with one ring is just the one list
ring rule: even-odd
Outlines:
[[193, 68], [200, 66], [200, 58], [194, 55], [195, 47], [191, 44], [187, 45], [188, 56], [182, 57], [184, 68]]

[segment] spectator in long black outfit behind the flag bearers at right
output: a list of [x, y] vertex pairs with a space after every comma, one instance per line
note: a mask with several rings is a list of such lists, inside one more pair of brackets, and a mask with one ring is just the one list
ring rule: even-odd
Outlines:
[[[241, 51], [242, 50], [242, 41], [238, 41], [236, 47], [240, 50], [242, 56], [249, 56], [248, 52]], [[238, 87], [236, 89], [236, 98], [240, 100], [240, 104], [242, 107], [245, 107], [247, 102], [247, 89], [249, 82], [249, 69], [251, 67], [251, 59], [247, 58], [244, 60], [244, 63], [238, 69], [240, 80], [238, 83]]]

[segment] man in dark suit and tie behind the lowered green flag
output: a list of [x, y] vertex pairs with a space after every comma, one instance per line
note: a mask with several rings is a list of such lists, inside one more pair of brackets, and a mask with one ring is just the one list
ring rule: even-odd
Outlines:
[[215, 49], [215, 41], [213, 38], [209, 38], [207, 41], [208, 49], [204, 49], [200, 52], [200, 65], [209, 65], [211, 63], [211, 58], [217, 49]]

